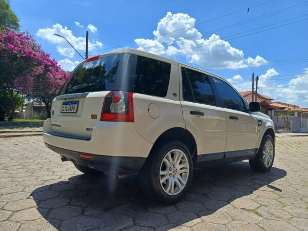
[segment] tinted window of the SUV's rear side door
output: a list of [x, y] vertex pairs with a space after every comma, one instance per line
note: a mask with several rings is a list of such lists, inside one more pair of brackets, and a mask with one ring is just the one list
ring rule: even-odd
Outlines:
[[181, 71], [185, 101], [216, 105], [213, 89], [206, 74], [184, 67], [181, 67]]

